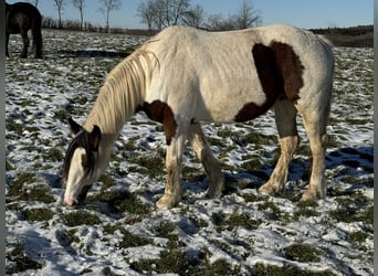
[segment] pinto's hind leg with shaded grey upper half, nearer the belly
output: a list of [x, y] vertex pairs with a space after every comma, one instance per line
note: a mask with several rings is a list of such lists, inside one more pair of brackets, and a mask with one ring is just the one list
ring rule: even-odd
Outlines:
[[281, 155], [269, 181], [260, 187], [259, 192], [273, 194], [285, 188], [288, 173], [288, 163], [300, 145], [296, 130], [297, 110], [288, 99], [277, 99], [274, 104], [275, 124], [280, 135]]

